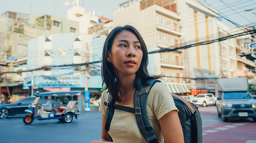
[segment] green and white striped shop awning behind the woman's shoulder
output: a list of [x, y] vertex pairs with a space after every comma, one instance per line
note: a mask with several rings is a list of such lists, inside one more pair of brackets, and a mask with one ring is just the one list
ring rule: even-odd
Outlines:
[[170, 92], [172, 93], [186, 93], [191, 92], [188, 88], [187, 84], [172, 84], [172, 83], [166, 83], [165, 84]]

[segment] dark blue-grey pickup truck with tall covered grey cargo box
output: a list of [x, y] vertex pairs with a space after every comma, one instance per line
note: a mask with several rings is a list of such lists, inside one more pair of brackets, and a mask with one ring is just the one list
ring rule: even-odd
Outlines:
[[218, 116], [229, 118], [252, 118], [256, 122], [256, 100], [249, 93], [247, 78], [223, 78], [215, 81]]

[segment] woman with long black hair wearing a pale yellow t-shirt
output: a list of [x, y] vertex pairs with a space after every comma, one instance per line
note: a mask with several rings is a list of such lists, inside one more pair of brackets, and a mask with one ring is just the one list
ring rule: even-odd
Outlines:
[[[116, 27], [107, 36], [102, 53], [102, 79], [106, 90], [102, 93], [102, 134], [100, 141], [92, 143], [147, 143], [137, 125], [135, 114], [115, 109], [109, 132], [105, 132], [108, 94], [113, 102], [133, 108], [134, 92], [149, 79], [148, 51], [139, 32], [132, 26]], [[157, 82], [150, 90], [146, 109], [150, 125], [159, 143], [184, 143], [183, 132], [173, 98], [167, 87]]]

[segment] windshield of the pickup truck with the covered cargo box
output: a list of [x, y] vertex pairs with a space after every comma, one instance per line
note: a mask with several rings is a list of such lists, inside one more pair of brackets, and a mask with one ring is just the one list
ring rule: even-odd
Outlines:
[[251, 99], [248, 92], [225, 92], [224, 99]]

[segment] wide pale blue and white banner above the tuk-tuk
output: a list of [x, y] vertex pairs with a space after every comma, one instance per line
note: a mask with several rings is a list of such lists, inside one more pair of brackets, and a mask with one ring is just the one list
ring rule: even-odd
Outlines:
[[85, 75], [61, 75], [61, 76], [36, 76], [34, 86], [38, 88], [84, 88]]

